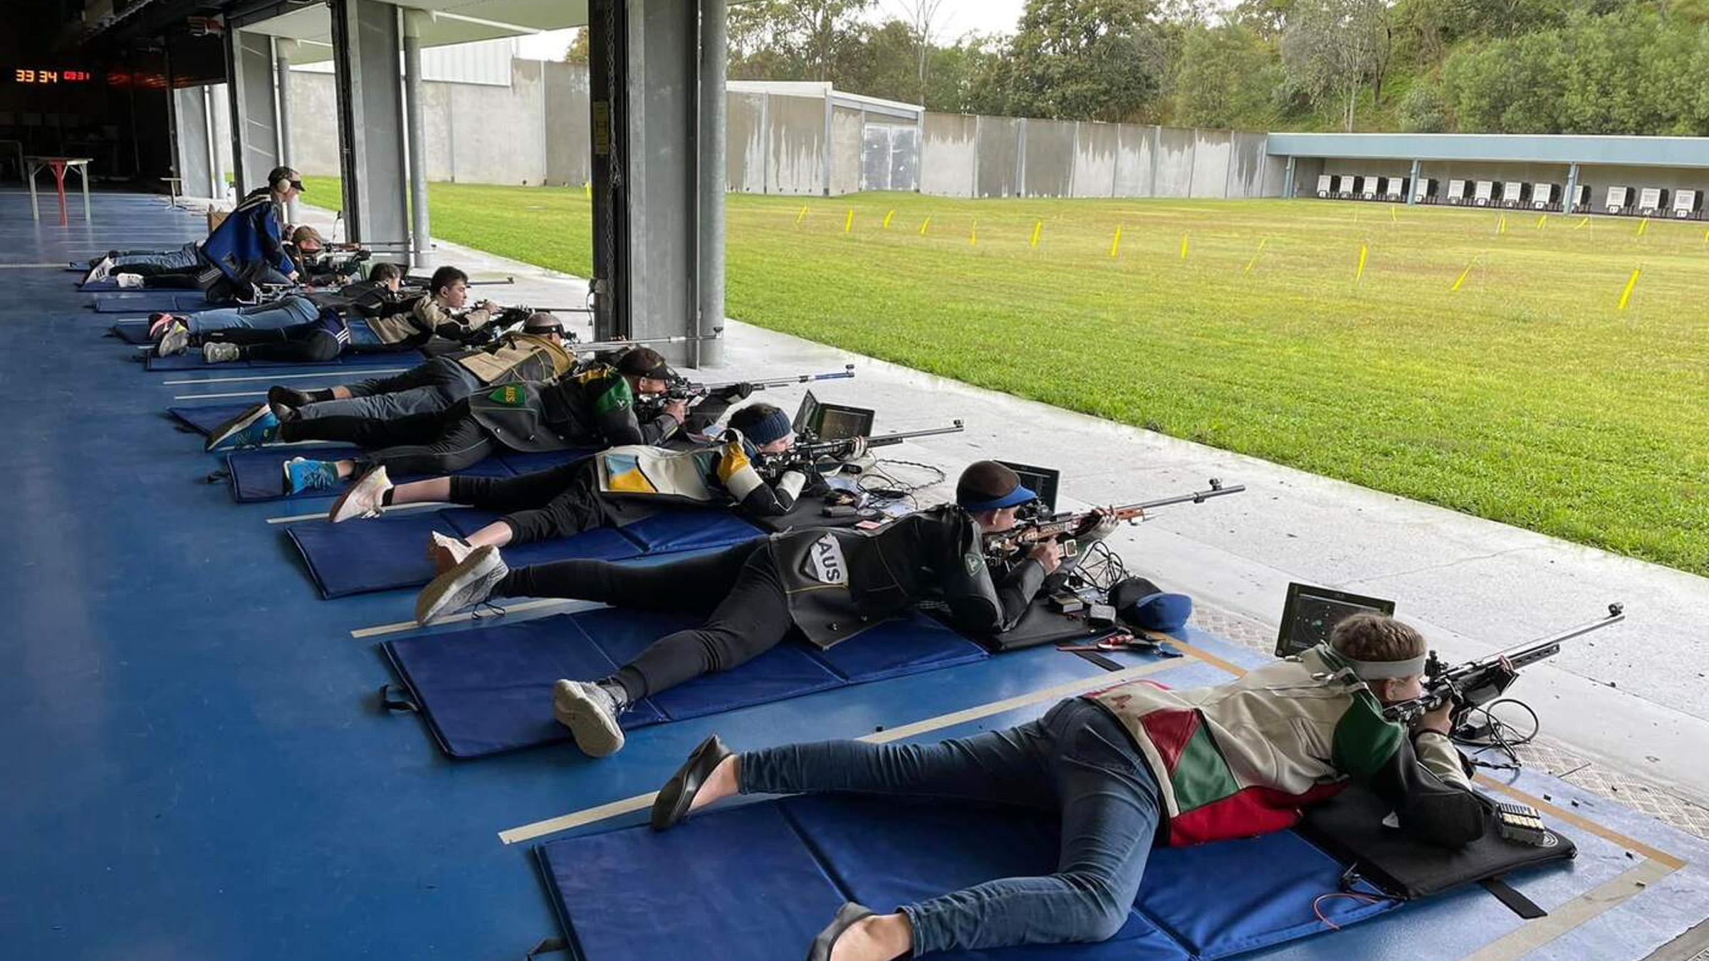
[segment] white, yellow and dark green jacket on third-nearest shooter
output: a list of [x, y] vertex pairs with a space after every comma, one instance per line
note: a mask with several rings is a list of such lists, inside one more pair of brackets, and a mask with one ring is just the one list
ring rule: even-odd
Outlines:
[[786, 470], [767, 484], [754, 467], [754, 446], [737, 429], [716, 445], [667, 450], [646, 445], [614, 446], [595, 457], [600, 492], [685, 504], [742, 504], [759, 516], [795, 508], [807, 474]]

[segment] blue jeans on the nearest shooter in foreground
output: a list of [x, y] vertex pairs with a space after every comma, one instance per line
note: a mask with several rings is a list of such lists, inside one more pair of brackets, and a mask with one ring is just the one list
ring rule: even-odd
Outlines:
[[1080, 698], [1032, 723], [940, 744], [825, 740], [750, 751], [742, 754], [740, 780], [742, 793], [892, 793], [1015, 804], [1061, 817], [1054, 874], [986, 881], [902, 905], [916, 956], [1114, 935], [1138, 894], [1160, 804], [1157, 780], [1126, 730]]

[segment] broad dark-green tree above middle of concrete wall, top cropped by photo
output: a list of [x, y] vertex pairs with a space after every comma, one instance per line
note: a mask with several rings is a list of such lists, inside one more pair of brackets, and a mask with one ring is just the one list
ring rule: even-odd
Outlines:
[[1027, 0], [1008, 43], [1008, 113], [1131, 120], [1167, 70], [1150, 0]]

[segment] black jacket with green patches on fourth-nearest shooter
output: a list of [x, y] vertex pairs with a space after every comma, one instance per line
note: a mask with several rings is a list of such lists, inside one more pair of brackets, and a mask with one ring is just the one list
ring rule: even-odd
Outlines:
[[511, 450], [656, 445], [677, 433], [668, 414], [643, 422], [617, 368], [593, 364], [552, 381], [516, 381], [468, 398], [475, 421]]

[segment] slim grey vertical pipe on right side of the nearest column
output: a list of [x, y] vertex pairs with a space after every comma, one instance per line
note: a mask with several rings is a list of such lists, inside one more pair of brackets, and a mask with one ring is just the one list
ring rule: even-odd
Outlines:
[[[708, 337], [725, 325], [725, 72], [728, 56], [725, 0], [701, 0], [701, 224], [699, 224], [699, 328]], [[694, 344], [694, 366], [725, 361], [721, 340]]]

